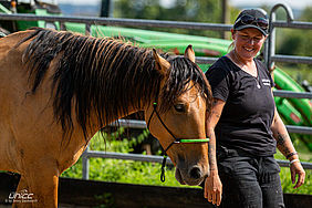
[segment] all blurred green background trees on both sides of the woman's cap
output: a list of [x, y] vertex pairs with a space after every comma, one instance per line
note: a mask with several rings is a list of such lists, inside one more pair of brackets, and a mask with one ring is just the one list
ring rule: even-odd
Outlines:
[[[267, 12], [270, 7], [261, 6]], [[229, 7], [230, 22], [233, 23], [240, 9]], [[269, 13], [268, 13], [269, 14]], [[218, 0], [176, 0], [175, 3], [165, 8], [160, 0], [115, 0], [114, 17], [132, 19], [152, 19], [152, 20], [175, 20], [191, 22], [221, 22], [221, 1]], [[283, 9], [277, 10], [277, 19], [287, 20], [287, 13]], [[305, 8], [297, 21], [312, 21], [312, 8]], [[147, 28], [146, 28], [147, 29]], [[166, 32], [177, 32], [187, 34], [197, 34], [211, 38], [220, 38], [221, 33], [217, 31], [184, 30], [184, 29], [153, 29]], [[312, 56], [312, 30], [298, 29], [277, 29], [277, 53], [287, 55]], [[280, 63], [279, 63], [280, 65]], [[298, 69], [303, 74], [310, 71], [306, 64], [282, 64], [287, 67]], [[297, 73], [297, 74], [302, 74]], [[293, 74], [293, 73], [291, 73]], [[303, 75], [304, 76], [304, 75]], [[295, 75], [292, 77], [297, 79]], [[304, 76], [312, 83], [311, 77]], [[301, 81], [301, 80], [299, 80]]]

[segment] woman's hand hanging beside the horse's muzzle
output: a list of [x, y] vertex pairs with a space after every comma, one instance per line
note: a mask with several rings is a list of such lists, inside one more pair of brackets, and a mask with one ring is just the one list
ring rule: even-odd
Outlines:
[[205, 194], [204, 197], [207, 198], [209, 202], [219, 206], [221, 204], [222, 197], [222, 183], [217, 173], [210, 173], [210, 175], [205, 180]]

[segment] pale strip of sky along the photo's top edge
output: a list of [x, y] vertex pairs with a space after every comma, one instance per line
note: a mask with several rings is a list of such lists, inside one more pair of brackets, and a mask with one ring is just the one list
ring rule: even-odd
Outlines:
[[[98, 4], [101, 0], [58, 0], [58, 2], [66, 3], [86, 3]], [[170, 4], [175, 0], [160, 0], [164, 4]], [[312, 0], [229, 0], [231, 6], [236, 7], [259, 7], [262, 4], [273, 6], [277, 3], [288, 3], [292, 9], [303, 9], [304, 7], [312, 7]]]

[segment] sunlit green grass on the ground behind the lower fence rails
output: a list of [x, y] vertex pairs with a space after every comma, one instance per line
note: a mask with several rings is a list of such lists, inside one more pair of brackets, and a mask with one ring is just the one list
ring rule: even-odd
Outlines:
[[[123, 129], [117, 134], [121, 135]], [[106, 145], [104, 139], [98, 134], [91, 142], [91, 149], [93, 150], [107, 150], [107, 152], [119, 152], [131, 153], [132, 146], [137, 142], [143, 141], [147, 136], [147, 132], [143, 132], [138, 139], [135, 138], [123, 138], [114, 139], [115, 135], [104, 134], [106, 137]], [[304, 162], [312, 162], [312, 155], [309, 149], [300, 142], [294, 141], [300, 157]], [[281, 153], [275, 155], [277, 159], [284, 159]], [[299, 189], [293, 189], [294, 185], [291, 184], [291, 177], [289, 168], [281, 167], [281, 181], [284, 193], [292, 194], [308, 194], [312, 195], [312, 170], [306, 170], [305, 184]], [[62, 174], [63, 177], [82, 178], [82, 162], [81, 159], [70, 169]], [[113, 183], [126, 183], [126, 184], [139, 184], [139, 185], [156, 185], [156, 186], [171, 186], [171, 187], [189, 187], [178, 184], [175, 179], [175, 168], [169, 167], [166, 171], [166, 181], [162, 183], [160, 176], [160, 164], [154, 163], [142, 163], [133, 160], [121, 160], [121, 159], [103, 159], [103, 158], [91, 158], [90, 159], [90, 179], [104, 180]], [[196, 186], [197, 187], [197, 186]]]

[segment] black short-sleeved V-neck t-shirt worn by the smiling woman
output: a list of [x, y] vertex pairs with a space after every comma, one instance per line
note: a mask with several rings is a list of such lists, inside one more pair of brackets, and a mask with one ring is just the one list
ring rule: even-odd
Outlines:
[[215, 128], [217, 145], [271, 156], [277, 142], [271, 124], [274, 100], [273, 81], [262, 62], [254, 59], [258, 76], [245, 72], [227, 56], [220, 58], [206, 72], [212, 95], [226, 102]]

